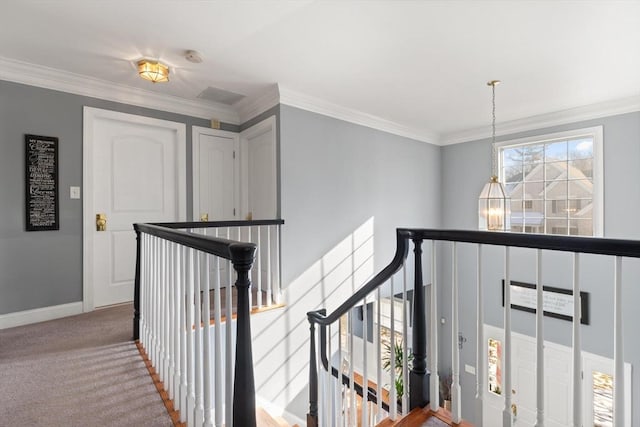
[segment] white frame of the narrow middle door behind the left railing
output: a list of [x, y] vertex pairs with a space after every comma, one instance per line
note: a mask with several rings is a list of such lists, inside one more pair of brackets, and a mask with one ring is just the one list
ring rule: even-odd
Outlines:
[[193, 221], [200, 221], [200, 136], [210, 135], [233, 140], [235, 158], [233, 160], [233, 207], [236, 218], [240, 216], [240, 135], [236, 132], [211, 129], [202, 126], [191, 127], [191, 170], [193, 182]]

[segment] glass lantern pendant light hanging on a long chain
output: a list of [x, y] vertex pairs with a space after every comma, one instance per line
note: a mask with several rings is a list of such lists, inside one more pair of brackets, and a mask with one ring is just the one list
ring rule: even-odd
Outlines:
[[511, 199], [498, 180], [496, 152], [496, 86], [500, 80], [491, 80], [492, 91], [491, 177], [478, 197], [478, 228], [489, 231], [509, 231], [511, 228]]

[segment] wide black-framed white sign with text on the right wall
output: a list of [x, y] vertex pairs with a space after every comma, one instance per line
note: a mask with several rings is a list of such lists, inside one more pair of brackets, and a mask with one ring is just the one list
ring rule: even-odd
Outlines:
[[[542, 287], [544, 315], [573, 321], [573, 290]], [[502, 281], [502, 306], [504, 307], [504, 280]], [[536, 312], [536, 285], [511, 281], [511, 308], [529, 313]], [[589, 294], [580, 292], [580, 323], [589, 324]]]

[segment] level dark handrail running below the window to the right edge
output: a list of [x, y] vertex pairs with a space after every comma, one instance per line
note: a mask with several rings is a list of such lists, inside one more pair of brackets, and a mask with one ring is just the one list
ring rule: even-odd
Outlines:
[[481, 243], [485, 245], [640, 258], [639, 240], [428, 228], [403, 228], [401, 230], [408, 233], [411, 239]]

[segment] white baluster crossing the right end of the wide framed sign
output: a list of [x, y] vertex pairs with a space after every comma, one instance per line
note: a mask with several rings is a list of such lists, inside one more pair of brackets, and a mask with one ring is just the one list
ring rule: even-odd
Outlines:
[[582, 427], [582, 337], [580, 328], [580, 254], [573, 254], [573, 425]]

